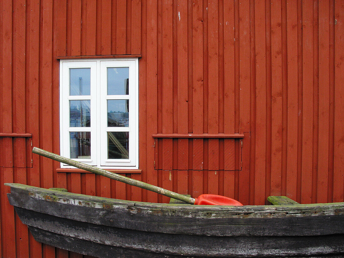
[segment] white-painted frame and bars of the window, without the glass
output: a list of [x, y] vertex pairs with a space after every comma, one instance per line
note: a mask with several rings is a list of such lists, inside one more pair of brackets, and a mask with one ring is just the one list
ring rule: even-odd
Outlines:
[[[69, 69], [91, 68], [90, 95], [69, 96]], [[107, 95], [107, 68], [129, 67], [129, 95]], [[60, 153], [70, 158], [70, 131], [90, 131], [91, 158], [73, 159], [104, 169], [139, 168], [138, 58], [60, 60]], [[90, 99], [90, 127], [70, 127], [70, 100]], [[107, 99], [129, 100], [129, 127], [107, 127]], [[129, 159], [106, 159], [107, 131], [129, 132]], [[61, 163], [61, 168], [74, 168]]]

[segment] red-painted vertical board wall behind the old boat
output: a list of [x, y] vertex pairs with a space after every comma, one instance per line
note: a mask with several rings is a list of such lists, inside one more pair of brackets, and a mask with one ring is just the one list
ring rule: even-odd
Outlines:
[[142, 172], [126, 176], [244, 204], [343, 201], [344, 1], [0, 4], [0, 257], [82, 257], [35, 242], [5, 182], [168, 201], [31, 154], [59, 152], [58, 56], [142, 56]]

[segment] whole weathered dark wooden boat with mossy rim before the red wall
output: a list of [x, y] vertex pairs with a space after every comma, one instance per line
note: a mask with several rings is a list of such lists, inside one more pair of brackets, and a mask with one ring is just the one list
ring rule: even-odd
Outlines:
[[[344, 203], [208, 206], [115, 200], [12, 184], [44, 244], [95, 257], [343, 257]], [[282, 200], [282, 202], [280, 202]]]

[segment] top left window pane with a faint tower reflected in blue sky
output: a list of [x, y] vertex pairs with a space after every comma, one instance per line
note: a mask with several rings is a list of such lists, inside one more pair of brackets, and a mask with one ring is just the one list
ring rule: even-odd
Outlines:
[[69, 69], [70, 96], [91, 95], [91, 68]]

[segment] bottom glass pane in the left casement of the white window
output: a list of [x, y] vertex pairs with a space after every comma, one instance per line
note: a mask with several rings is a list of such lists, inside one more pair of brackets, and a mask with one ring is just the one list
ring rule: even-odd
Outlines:
[[91, 132], [69, 132], [71, 159], [91, 158]]

